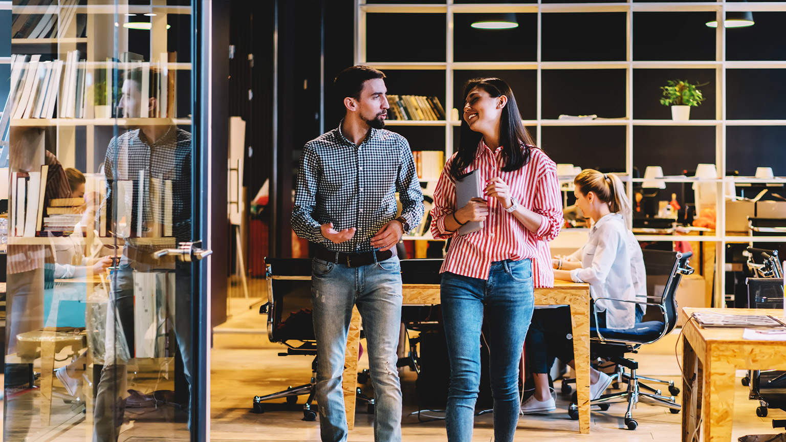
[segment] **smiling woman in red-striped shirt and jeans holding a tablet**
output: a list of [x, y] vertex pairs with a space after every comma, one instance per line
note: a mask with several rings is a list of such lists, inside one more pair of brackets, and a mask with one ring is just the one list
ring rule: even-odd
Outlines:
[[[472, 440], [480, 383], [480, 335], [490, 347], [494, 440], [513, 440], [519, 418], [519, 360], [533, 310], [534, 285], [551, 269], [533, 267], [542, 241], [560, 232], [556, 166], [521, 123], [510, 87], [496, 78], [465, 85], [461, 142], [434, 191], [432, 234], [451, 238], [442, 273], [442, 311], [450, 358], [448, 440]], [[455, 182], [470, 171], [485, 182], [483, 198], [456, 207]], [[482, 221], [475, 232], [456, 230]], [[545, 267], [545, 268], [544, 268]]]

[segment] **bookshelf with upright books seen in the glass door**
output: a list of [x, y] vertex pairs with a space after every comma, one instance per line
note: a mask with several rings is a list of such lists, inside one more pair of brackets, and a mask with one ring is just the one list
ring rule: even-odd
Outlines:
[[[46, 105], [43, 105], [41, 112], [34, 109], [28, 115], [30, 112], [25, 111], [21, 118], [17, 112], [11, 112], [6, 120], [12, 130], [19, 131], [17, 133], [37, 130], [39, 138], [45, 140], [42, 144], [56, 155], [63, 168], [83, 171], [89, 182], [94, 181], [90, 184], [94, 184], [96, 189], [104, 186], [102, 175], [98, 172], [107, 146], [116, 134], [122, 134], [129, 127], [173, 123], [190, 131], [191, 42], [189, 40], [185, 45], [182, 44], [179, 38], [186, 28], [176, 27], [190, 23], [191, 6], [168, 6], [166, 0], [150, 0], [148, 5], [127, 5], [103, 0], [44, 0], [35, 2], [39, 3], [36, 5], [20, 3], [25, 4], [0, 2], [0, 9], [9, 9], [12, 13], [15, 27], [12, 37], [17, 37], [11, 39], [11, 57], [2, 57], [0, 62], [10, 64], [12, 69], [16, 64], [24, 66], [22, 85], [27, 83], [25, 76], [33, 65], [33, 57], [40, 61], [39, 66], [44, 63], [52, 63], [47, 64], [47, 67], [54, 66], [59, 60], [64, 67], [62, 73], [57, 72], [57, 80], [49, 82], [48, 89], [43, 85], [47, 78], [56, 77], [54, 70], [51, 71], [51, 77], [47, 77], [49, 74], [36, 74], [42, 86], [38, 87], [38, 83], [35, 83], [31, 88], [33, 92], [28, 107], [35, 94], [39, 94], [47, 99], [53, 97], [51, 110], [47, 112]], [[187, 20], [183, 17], [187, 17]], [[145, 22], [149, 29], [127, 26], [133, 22]], [[186, 35], [189, 33], [185, 32]], [[75, 112], [64, 113], [63, 106], [69, 105], [68, 93], [71, 93], [65, 87], [68, 78], [65, 71], [72, 60], [71, 54], [77, 51], [79, 58], [74, 57], [73, 60], [74, 71], [79, 72], [79, 76], [72, 83], [76, 85], [75, 90], [68, 89], [72, 92], [70, 103], [75, 106]], [[142, 68], [143, 72], [147, 72], [148, 65], [158, 68], [160, 72], [157, 82], [159, 89], [151, 89], [154, 95], [149, 95], [159, 98], [159, 114], [155, 117], [124, 118], [117, 112], [115, 117], [112, 109], [118, 105], [116, 101], [121, 94], [119, 89], [123, 72], [130, 68]], [[112, 72], [116, 72], [116, 84], [107, 80], [115, 81]], [[81, 89], [80, 78], [83, 78]], [[180, 103], [178, 106], [178, 102], [183, 99], [187, 105]], [[15, 105], [15, 109], [20, 107], [20, 104]], [[10, 155], [19, 154], [14, 153], [13, 149], [31, 149], [21, 144], [12, 143]], [[36, 149], [40, 148], [36, 146]], [[110, 220], [107, 219], [107, 222]], [[25, 233], [28, 232], [25, 230]], [[111, 242], [113, 239], [102, 240]], [[50, 241], [57, 243], [62, 240], [57, 237], [9, 235], [9, 244], [13, 245], [46, 245]]]

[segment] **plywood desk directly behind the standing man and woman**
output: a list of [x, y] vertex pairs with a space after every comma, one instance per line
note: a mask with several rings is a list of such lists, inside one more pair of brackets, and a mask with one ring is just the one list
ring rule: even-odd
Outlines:
[[[404, 284], [404, 305], [439, 304], [439, 284]], [[553, 289], [535, 289], [535, 304], [569, 305], [573, 324], [573, 351], [576, 365], [576, 395], [578, 396], [578, 432], [589, 433], [589, 285], [556, 281]], [[358, 382], [358, 346], [360, 344], [360, 314], [352, 311], [347, 352], [344, 356], [343, 393], [347, 410], [347, 426], [354, 428], [355, 389]]]

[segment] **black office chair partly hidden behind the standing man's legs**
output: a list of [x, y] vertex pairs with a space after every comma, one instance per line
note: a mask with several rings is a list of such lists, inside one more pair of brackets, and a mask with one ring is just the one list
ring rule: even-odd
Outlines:
[[[265, 258], [267, 303], [259, 308], [260, 315], [267, 315], [267, 338], [270, 342], [277, 342], [287, 346], [286, 352], [278, 353], [279, 356], [309, 355], [314, 356], [311, 361], [311, 379], [309, 383], [296, 387], [289, 387], [280, 392], [264, 396], [254, 396], [252, 412], [263, 414], [265, 409], [263, 401], [286, 398], [287, 403], [294, 405], [298, 396], [308, 395], [303, 404], [303, 420], [314, 421], [316, 411], [312, 410], [314, 402], [314, 385], [317, 382], [317, 339], [314, 337], [314, 326], [311, 322], [309, 310], [311, 307], [311, 260], [305, 258]], [[285, 302], [291, 301], [285, 308]], [[294, 304], [294, 305], [293, 305]], [[300, 308], [296, 314], [290, 316], [287, 323], [282, 319], [285, 310], [292, 311]], [[293, 322], [294, 325], [293, 326]], [[361, 336], [362, 337], [362, 336]], [[368, 373], [364, 370], [363, 376]], [[361, 382], [362, 383], [362, 382]], [[374, 400], [365, 396], [358, 387], [358, 400], [366, 404], [369, 414], [374, 412]]]

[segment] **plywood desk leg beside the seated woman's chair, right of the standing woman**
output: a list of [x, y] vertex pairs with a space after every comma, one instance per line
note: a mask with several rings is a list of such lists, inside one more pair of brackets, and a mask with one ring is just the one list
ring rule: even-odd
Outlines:
[[571, 304], [573, 357], [578, 399], [578, 432], [589, 434], [589, 307]]

